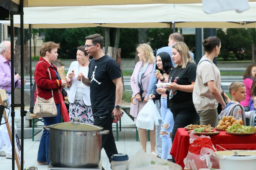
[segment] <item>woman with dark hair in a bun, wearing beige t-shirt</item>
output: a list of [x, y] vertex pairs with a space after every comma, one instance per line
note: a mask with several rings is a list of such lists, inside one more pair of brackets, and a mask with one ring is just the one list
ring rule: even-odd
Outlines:
[[[213, 59], [218, 56], [221, 48], [221, 40], [216, 37], [208, 37], [202, 42], [205, 55], [197, 66], [197, 78], [193, 91], [193, 102], [200, 117], [201, 125], [218, 125], [218, 103], [222, 109], [226, 106], [222, 98], [221, 74]], [[230, 99], [224, 93], [228, 102]]]

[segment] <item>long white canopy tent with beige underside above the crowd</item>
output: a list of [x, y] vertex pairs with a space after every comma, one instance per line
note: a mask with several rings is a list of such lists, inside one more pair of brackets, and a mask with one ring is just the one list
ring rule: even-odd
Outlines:
[[[206, 14], [202, 4], [144, 4], [24, 8], [24, 28], [256, 28], [256, 2], [243, 13]], [[10, 25], [10, 21], [0, 21]], [[20, 16], [14, 15], [20, 27]]]

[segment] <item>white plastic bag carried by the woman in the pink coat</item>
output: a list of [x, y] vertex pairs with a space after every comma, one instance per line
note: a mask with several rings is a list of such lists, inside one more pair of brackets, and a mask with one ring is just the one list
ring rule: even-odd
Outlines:
[[136, 127], [148, 130], [154, 130], [154, 125], [159, 125], [158, 119], [161, 117], [157, 116], [159, 112], [154, 104], [153, 100], [148, 100], [142, 110], [139, 112], [136, 119]]

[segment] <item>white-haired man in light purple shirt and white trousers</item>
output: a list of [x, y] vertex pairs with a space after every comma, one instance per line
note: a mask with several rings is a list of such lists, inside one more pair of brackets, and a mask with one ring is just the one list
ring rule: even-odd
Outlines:
[[[0, 89], [6, 90], [9, 103], [11, 104], [11, 42], [9, 41], [3, 41], [0, 44], [0, 80]], [[19, 74], [14, 75], [14, 82], [15, 87], [20, 87]], [[26, 84], [26, 80], [24, 80], [24, 84]], [[1, 123], [5, 123], [5, 119], [2, 119]], [[2, 151], [4, 143], [6, 153]], [[0, 126], [0, 156], [12, 159], [11, 141], [6, 125]]]

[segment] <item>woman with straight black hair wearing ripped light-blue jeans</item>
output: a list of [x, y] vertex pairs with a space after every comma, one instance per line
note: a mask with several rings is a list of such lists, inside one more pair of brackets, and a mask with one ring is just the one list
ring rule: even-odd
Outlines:
[[[156, 58], [156, 72], [154, 75], [158, 78], [157, 83], [161, 83], [166, 80], [169, 82], [169, 75], [172, 70], [172, 60], [168, 53], [161, 52], [157, 55]], [[161, 116], [163, 119], [163, 126], [160, 131], [160, 137], [162, 138], [162, 159], [167, 160], [168, 155], [171, 151], [172, 143], [172, 128], [174, 125], [174, 120], [170, 107], [168, 106], [169, 102], [169, 91], [166, 90], [164, 86], [157, 86], [156, 94], [149, 95], [149, 98], [159, 100], [160, 99], [160, 110]]]

